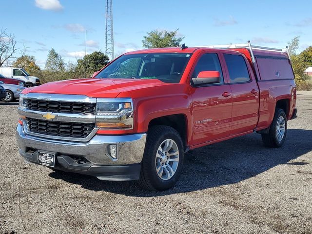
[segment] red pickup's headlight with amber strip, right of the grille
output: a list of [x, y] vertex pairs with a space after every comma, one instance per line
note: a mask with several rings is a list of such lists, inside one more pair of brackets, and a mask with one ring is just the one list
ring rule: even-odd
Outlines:
[[98, 98], [96, 126], [101, 129], [133, 129], [131, 98]]

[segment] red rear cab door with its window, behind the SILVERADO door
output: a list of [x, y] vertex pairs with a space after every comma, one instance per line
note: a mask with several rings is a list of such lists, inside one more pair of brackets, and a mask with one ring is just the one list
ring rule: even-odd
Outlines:
[[259, 89], [254, 72], [247, 66], [244, 56], [231, 52], [223, 56], [233, 97], [231, 134], [252, 131], [257, 125], [259, 111]]

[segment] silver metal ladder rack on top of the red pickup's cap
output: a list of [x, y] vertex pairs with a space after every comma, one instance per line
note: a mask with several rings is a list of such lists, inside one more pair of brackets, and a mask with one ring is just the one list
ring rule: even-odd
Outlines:
[[276, 49], [276, 48], [270, 48], [270, 47], [264, 47], [264, 46], [256, 46], [256, 45], [252, 45], [250, 43], [250, 40], [246, 44], [205, 45], [205, 46], [199, 46], [199, 47], [217, 48], [217, 49], [247, 48], [250, 50], [250, 54], [251, 54], [253, 63], [255, 63], [253, 49], [286, 52], [288, 54], [288, 58], [291, 59], [288, 46], [286, 46], [286, 49]]

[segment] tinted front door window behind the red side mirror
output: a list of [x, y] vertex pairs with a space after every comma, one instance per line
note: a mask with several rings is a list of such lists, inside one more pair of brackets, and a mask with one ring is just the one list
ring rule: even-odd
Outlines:
[[[192, 78], [197, 78], [199, 72], [202, 71], [217, 71], [220, 72], [221, 79], [219, 83], [215, 84], [224, 84], [221, 64], [218, 58], [217, 54], [204, 54], [201, 56], [201, 58], [198, 60], [195, 70], [192, 74]], [[214, 84], [214, 85], [215, 85]]]

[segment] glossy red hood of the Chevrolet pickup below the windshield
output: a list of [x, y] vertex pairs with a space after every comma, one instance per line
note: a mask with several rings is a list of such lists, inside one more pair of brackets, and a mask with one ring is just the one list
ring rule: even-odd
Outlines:
[[22, 94], [74, 94], [90, 98], [116, 98], [121, 92], [135, 91], [143, 88], [168, 85], [158, 79], [110, 79], [87, 78], [49, 82], [40, 86], [27, 88]]

